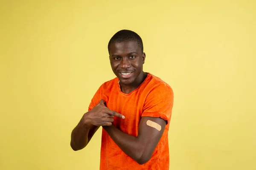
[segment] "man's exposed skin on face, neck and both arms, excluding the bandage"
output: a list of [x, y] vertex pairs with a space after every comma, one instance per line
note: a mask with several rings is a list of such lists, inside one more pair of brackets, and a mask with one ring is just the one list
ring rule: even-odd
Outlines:
[[[111, 68], [120, 80], [121, 90], [124, 93], [131, 93], [147, 77], [143, 72], [145, 53], [141, 51], [136, 41], [115, 42], [110, 45], [109, 59]], [[123, 77], [122, 73], [132, 72], [131, 75]], [[112, 125], [113, 116], [122, 115], [109, 110], [105, 102], [101, 100], [91, 111], [84, 114], [79, 124], [75, 127], [71, 135], [71, 147], [73, 150], [84, 148], [93, 134], [102, 126], [111, 136], [113, 141], [122, 149], [124, 153], [137, 161], [145, 164], [151, 158], [166, 126], [166, 121], [161, 118], [142, 117], [140, 120], [138, 136], [126, 134]], [[146, 125], [151, 120], [161, 126], [161, 130]]]

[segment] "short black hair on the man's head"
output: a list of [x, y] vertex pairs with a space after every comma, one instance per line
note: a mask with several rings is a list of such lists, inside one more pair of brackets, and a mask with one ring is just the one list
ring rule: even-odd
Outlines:
[[118, 31], [116, 34], [113, 35], [113, 37], [108, 42], [108, 53], [110, 51], [110, 45], [113, 42], [124, 42], [128, 40], [137, 41], [138, 45], [141, 48], [141, 52], [143, 53], [143, 42], [141, 37], [134, 31], [130, 31], [127, 29], [123, 29], [121, 31]]

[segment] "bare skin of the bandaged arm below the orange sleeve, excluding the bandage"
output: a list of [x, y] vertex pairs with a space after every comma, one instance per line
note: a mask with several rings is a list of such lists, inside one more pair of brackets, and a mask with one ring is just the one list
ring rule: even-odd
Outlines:
[[[146, 122], [151, 120], [161, 126], [161, 130], [148, 126]], [[140, 120], [138, 136], [132, 136], [122, 132], [115, 126], [102, 126], [120, 149], [137, 161], [139, 164], [145, 164], [151, 156], [163, 135], [166, 126], [166, 120], [156, 117], [142, 117]]]

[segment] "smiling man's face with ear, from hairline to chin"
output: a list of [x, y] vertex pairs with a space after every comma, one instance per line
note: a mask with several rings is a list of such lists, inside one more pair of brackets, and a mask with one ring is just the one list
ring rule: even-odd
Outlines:
[[136, 41], [111, 43], [109, 57], [111, 68], [122, 84], [131, 85], [143, 74], [145, 53]]

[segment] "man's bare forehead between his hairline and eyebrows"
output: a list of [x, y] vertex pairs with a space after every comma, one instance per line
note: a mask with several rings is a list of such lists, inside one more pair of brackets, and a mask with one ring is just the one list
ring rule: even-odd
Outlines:
[[123, 42], [112, 42], [110, 45], [110, 54], [128, 54], [131, 52], [137, 52], [140, 54], [141, 48], [136, 41], [123, 41]]

